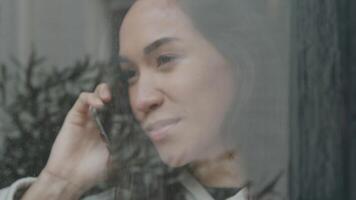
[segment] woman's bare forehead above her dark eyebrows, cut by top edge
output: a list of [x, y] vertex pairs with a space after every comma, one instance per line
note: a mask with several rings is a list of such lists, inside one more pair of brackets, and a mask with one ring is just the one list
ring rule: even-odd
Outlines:
[[190, 19], [172, 0], [140, 0], [126, 15], [120, 28], [120, 54], [129, 54], [164, 38], [187, 38], [195, 34]]

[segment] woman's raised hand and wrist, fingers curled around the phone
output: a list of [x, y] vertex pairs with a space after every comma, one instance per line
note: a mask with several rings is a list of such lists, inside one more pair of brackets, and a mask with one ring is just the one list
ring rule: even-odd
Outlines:
[[97, 116], [111, 98], [107, 84], [79, 95], [56, 137], [46, 166], [23, 199], [79, 199], [107, 179], [111, 162], [110, 138]]

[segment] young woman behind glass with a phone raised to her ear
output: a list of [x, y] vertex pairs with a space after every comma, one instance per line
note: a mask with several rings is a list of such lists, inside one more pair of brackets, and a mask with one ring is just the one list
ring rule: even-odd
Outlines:
[[[236, 2], [239, 10], [246, 8], [242, 1], [229, 4]], [[248, 49], [236, 48], [251, 41], [242, 39], [234, 46], [232, 40], [239, 35], [222, 37], [226, 30], [219, 25], [221, 16], [199, 13], [209, 4], [214, 1], [136, 1], [120, 29], [120, 67], [132, 113], [161, 160], [170, 167], [189, 168], [180, 179], [184, 198], [213, 199], [207, 188], [228, 188], [223, 198], [257, 198], [248, 195], [253, 194], [248, 159], [236, 146], [242, 143], [236, 142], [241, 134], [236, 113], [248, 97], [254, 69]], [[222, 18], [225, 25], [241, 20], [228, 18]], [[240, 25], [230, 28], [243, 30]], [[78, 199], [107, 178], [110, 154], [90, 109], [111, 100], [107, 84], [79, 96], [39, 177], [22, 180], [28, 189], [21, 199]], [[14, 188], [21, 187], [2, 191], [6, 200], [13, 198]]]

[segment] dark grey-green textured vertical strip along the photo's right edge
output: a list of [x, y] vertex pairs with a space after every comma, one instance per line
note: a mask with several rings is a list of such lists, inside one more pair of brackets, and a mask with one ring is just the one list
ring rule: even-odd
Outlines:
[[292, 3], [289, 192], [293, 200], [355, 199], [352, 7], [352, 0]]

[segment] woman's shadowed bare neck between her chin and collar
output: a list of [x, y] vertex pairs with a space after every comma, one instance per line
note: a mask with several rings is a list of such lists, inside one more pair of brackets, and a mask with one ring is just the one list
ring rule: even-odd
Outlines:
[[208, 187], [241, 187], [244, 181], [241, 160], [234, 151], [191, 164], [193, 175]]

